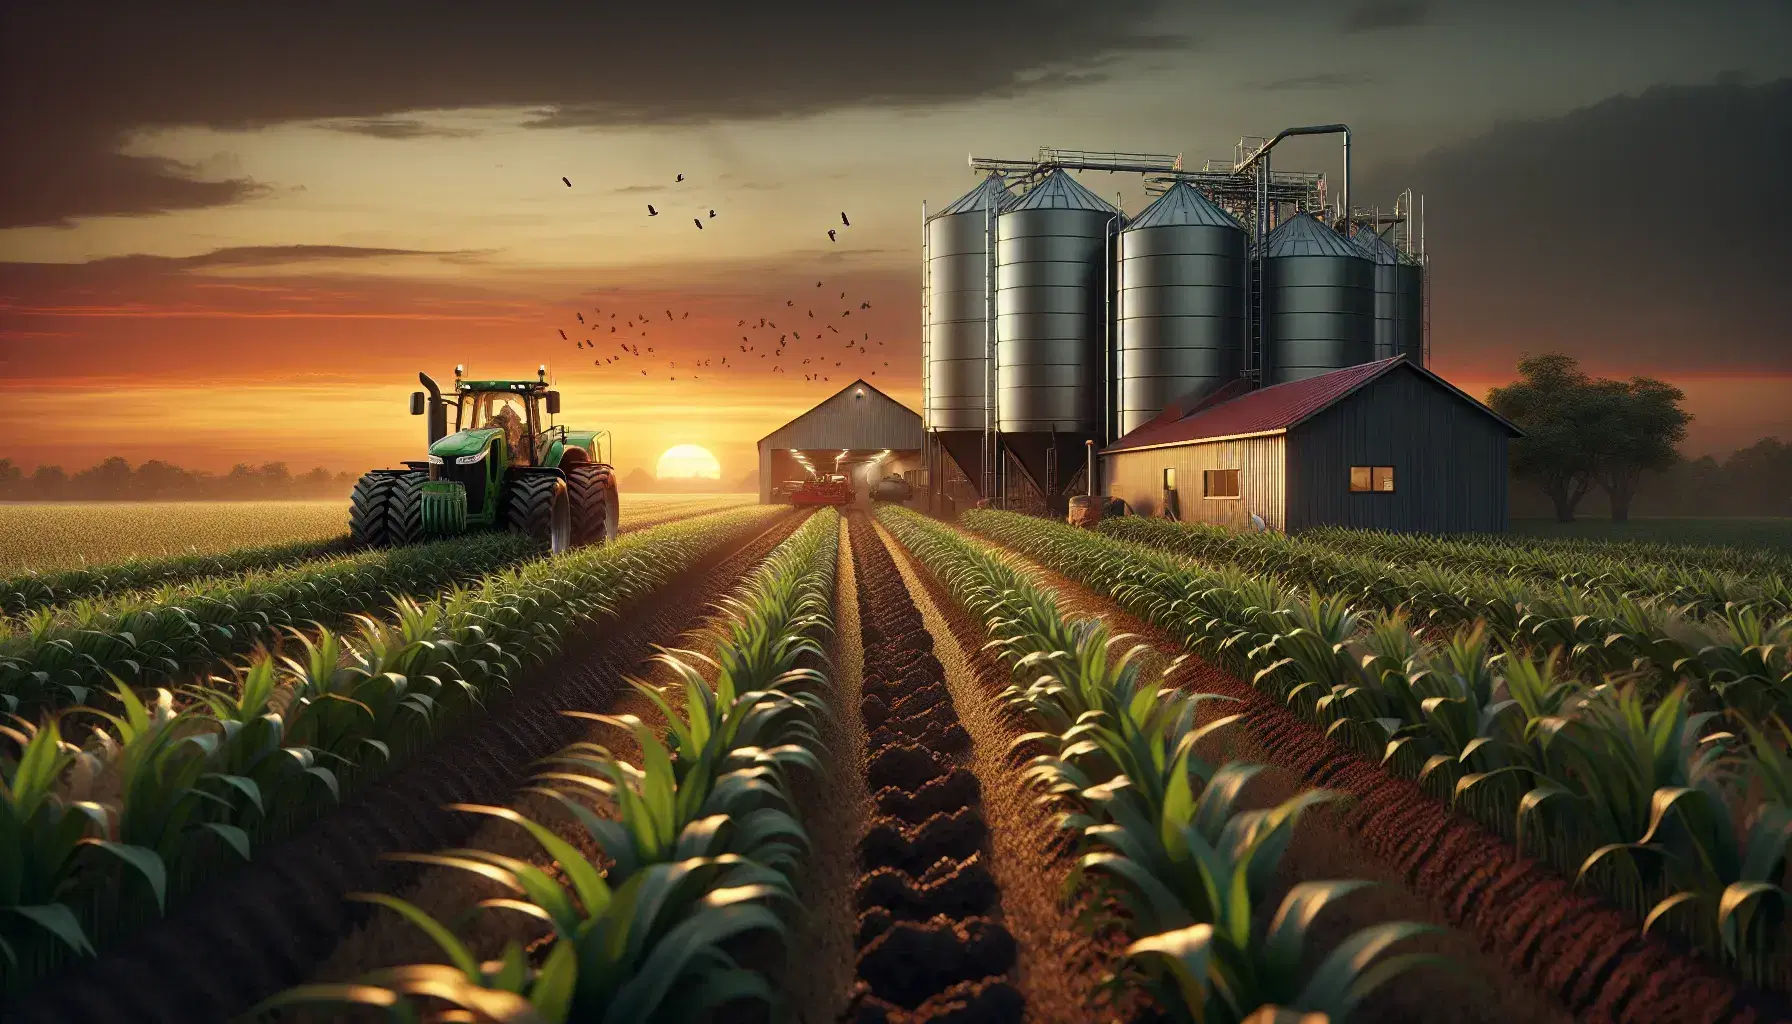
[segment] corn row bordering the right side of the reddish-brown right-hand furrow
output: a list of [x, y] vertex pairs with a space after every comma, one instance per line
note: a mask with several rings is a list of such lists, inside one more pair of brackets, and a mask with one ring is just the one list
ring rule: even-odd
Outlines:
[[[1552, 624], [1538, 608], [1552, 594], [1516, 592], [1503, 619], [1457, 603], [1443, 619], [1450, 629], [1416, 629], [1400, 608], [1425, 610], [1434, 592], [1366, 588], [1297, 560], [1213, 565], [1193, 551], [1208, 538], [1174, 524], [1104, 524], [1102, 536], [996, 511], [961, 522], [1111, 595], [1337, 742], [1600, 891], [1645, 931], [1690, 942], [1749, 981], [1792, 983], [1783, 888], [1792, 733], [1779, 717], [1792, 653], [1783, 642], [1706, 624], [1710, 642], [1676, 640], [1688, 651], [1681, 660], [1568, 673], [1561, 651], [1600, 669], [1611, 662], [1577, 649], [1586, 612]], [[1179, 545], [1170, 531], [1195, 540]], [[1410, 583], [1382, 570], [1380, 579]], [[1452, 604], [1430, 604], [1439, 606]], [[1633, 606], [1656, 610], [1647, 599]], [[1638, 619], [1615, 615], [1597, 640], [1602, 651], [1668, 642], [1620, 631], [1622, 622]], [[1792, 631], [1787, 620], [1762, 628]], [[1726, 664], [1745, 671], [1726, 673]], [[1713, 710], [1693, 710], [1695, 699]]]

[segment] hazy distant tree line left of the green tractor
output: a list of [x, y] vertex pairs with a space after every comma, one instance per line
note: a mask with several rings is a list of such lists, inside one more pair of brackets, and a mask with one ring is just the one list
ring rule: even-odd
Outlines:
[[161, 459], [131, 468], [129, 461], [113, 456], [75, 473], [63, 466], [38, 466], [27, 473], [13, 459], [0, 459], [0, 500], [339, 499], [353, 486], [355, 473], [324, 468], [294, 473], [285, 463], [238, 463], [228, 473], [206, 473]]

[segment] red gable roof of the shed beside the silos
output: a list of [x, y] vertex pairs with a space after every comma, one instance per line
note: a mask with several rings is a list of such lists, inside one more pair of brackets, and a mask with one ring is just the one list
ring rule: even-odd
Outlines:
[[[1369, 386], [1373, 380], [1398, 368], [1410, 369], [1434, 384], [1444, 387], [1450, 395], [1462, 402], [1468, 402], [1475, 409], [1486, 412], [1512, 436], [1523, 436], [1516, 425], [1509, 420], [1487, 409], [1473, 396], [1464, 393], [1455, 384], [1450, 384], [1443, 377], [1437, 377], [1430, 369], [1407, 360], [1405, 355], [1396, 355], [1392, 359], [1380, 359], [1374, 362], [1364, 362], [1358, 366], [1346, 366], [1344, 369], [1333, 369], [1331, 373], [1322, 373], [1319, 377], [1308, 377], [1306, 380], [1294, 380], [1288, 384], [1276, 384], [1274, 387], [1262, 387], [1258, 391], [1249, 391], [1236, 398], [1228, 398], [1220, 402], [1204, 402], [1192, 407], [1183, 416], [1158, 416], [1156, 420], [1138, 427], [1131, 434], [1125, 434], [1113, 445], [1102, 448], [1102, 452], [1125, 452], [1133, 448], [1156, 448], [1161, 445], [1193, 445], [1199, 441], [1211, 441], [1217, 438], [1238, 438], [1247, 434], [1274, 434], [1288, 430], [1306, 420], [1312, 420], [1319, 412], [1324, 412], [1331, 405], [1337, 405], [1344, 398], [1349, 398], [1357, 391]], [[1224, 393], [1215, 398], [1226, 398]]]

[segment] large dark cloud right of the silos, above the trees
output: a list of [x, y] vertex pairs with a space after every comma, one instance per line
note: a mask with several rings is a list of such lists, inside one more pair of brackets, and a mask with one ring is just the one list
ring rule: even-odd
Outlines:
[[1792, 79], [1659, 86], [1376, 169], [1358, 195], [1426, 194], [1437, 351], [1792, 371], [1785, 167]]

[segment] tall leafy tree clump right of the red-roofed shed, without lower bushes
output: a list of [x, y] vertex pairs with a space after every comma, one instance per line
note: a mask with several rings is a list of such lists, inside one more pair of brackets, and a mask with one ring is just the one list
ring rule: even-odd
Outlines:
[[1561, 353], [1527, 355], [1518, 380], [1495, 387], [1487, 404], [1518, 423], [1512, 472], [1534, 479], [1555, 506], [1557, 522], [1573, 522], [1581, 499], [1600, 486], [1611, 518], [1627, 520], [1643, 470], [1667, 470], [1692, 420], [1677, 387], [1652, 377], [1595, 380]]

